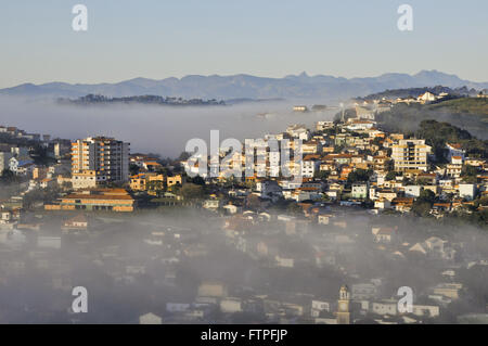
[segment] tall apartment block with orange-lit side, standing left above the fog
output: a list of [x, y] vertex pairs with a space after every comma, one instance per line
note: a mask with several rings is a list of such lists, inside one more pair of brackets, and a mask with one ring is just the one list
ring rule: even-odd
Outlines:
[[128, 181], [129, 146], [129, 143], [105, 137], [73, 142], [73, 188], [95, 188], [106, 182]]

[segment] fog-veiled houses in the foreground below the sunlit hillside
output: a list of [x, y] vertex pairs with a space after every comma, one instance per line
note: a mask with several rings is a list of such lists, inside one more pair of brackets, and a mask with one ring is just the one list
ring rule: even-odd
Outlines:
[[[130, 223], [127, 226], [116, 218], [77, 210], [59, 217], [48, 216], [49, 222], [41, 219], [36, 229], [17, 225], [13, 230], [0, 231], [3, 273], [0, 286], [8, 285], [11, 278], [36, 270], [49, 273], [42, 275], [42, 280], [49, 280], [44, 284], [59, 292], [56, 296], [63, 297], [63, 292], [70, 296], [75, 281], [88, 287], [95, 285], [88, 278], [76, 277], [75, 280], [74, 277], [73, 264], [89, 260], [91, 270], [102, 271], [113, 282], [108, 285], [111, 294], [117, 290], [130, 292], [128, 287], [137, 287], [140, 280], [147, 278], [152, 286], [166, 292], [163, 305], [159, 302], [152, 304], [153, 307], [136, 308], [131, 320], [124, 322], [233, 322], [237, 316], [247, 313], [258, 320], [244, 322], [426, 323], [441, 319], [450, 304], [466, 297], [471, 283], [465, 281], [467, 277], [460, 275], [462, 271], [488, 266], [481, 253], [467, 251], [466, 242], [446, 235], [412, 234], [408, 227], [382, 225], [381, 219], [371, 219], [360, 209], [350, 213], [348, 207], [326, 206], [322, 207], [325, 214], [318, 213], [319, 208], [308, 208], [307, 217], [246, 208], [240, 214], [207, 218], [205, 213], [208, 212], [201, 210], [204, 213], [198, 216], [201, 220], [187, 218], [188, 225], [152, 216], [126, 219]], [[205, 221], [205, 230], [194, 225], [203, 219], [210, 220]], [[61, 232], [53, 232], [56, 223]], [[126, 226], [132, 229], [132, 235], [137, 230], [137, 236], [124, 240], [126, 232], [120, 228]], [[120, 238], [113, 239], [114, 232]], [[90, 235], [103, 233], [112, 234], [112, 241]], [[69, 254], [65, 248], [87, 248], [87, 245], [90, 251], [74, 253], [81, 258], [65, 258]], [[128, 245], [138, 251], [128, 252]], [[216, 247], [227, 247], [227, 255], [236, 259], [228, 258], [214, 266], [240, 266], [239, 254], [244, 254], [255, 264], [253, 266], [260, 266], [266, 272], [269, 284], [254, 286], [253, 282], [247, 282], [243, 285], [236, 283], [233, 275], [215, 278], [213, 269], [204, 268], [208, 261], [216, 260], [209, 259], [216, 256]], [[362, 256], [368, 256], [371, 264], [377, 261], [371, 272], [359, 265]], [[200, 279], [189, 281], [184, 287], [179, 286], [181, 279], [178, 279], [182, 275], [179, 272], [182, 262], [193, 264], [195, 268], [200, 264], [204, 266]], [[391, 291], [389, 281], [404, 268], [419, 265], [424, 273], [420, 277], [432, 277], [432, 280], [419, 284], [411, 272], [402, 277], [402, 282], [412, 284], [415, 291], [412, 310], [406, 312], [399, 309], [399, 296]], [[281, 285], [284, 278], [292, 282], [303, 273], [309, 273], [309, 282], [301, 282], [297, 287]], [[325, 278], [331, 274], [338, 281], [320, 280], [320, 273]], [[239, 278], [246, 281], [246, 275]], [[341, 283], [349, 286], [345, 289], [348, 290], [346, 310], [339, 307]], [[157, 294], [154, 296], [162, 298]], [[61, 299], [50, 305], [49, 312], [39, 312], [41, 317], [66, 310], [69, 302]], [[76, 321], [79, 317], [67, 315], [64, 318]]]

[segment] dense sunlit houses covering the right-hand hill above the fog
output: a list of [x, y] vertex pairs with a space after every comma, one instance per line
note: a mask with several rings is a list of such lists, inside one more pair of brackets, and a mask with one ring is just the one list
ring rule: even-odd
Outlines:
[[[301, 181], [277, 175], [274, 169], [280, 167], [280, 153], [267, 150], [265, 145], [261, 152], [257, 151], [258, 158], [261, 156], [265, 164], [260, 168], [256, 165], [256, 169], [258, 174], [261, 169], [262, 174], [243, 178], [242, 181], [248, 184], [218, 188], [217, 197], [206, 201], [204, 207], [232, 212], [243, 206], [244, 198], [255, 195], [262, 205], [272, 205], [280, 200], [311, 205], [329, 202], [363, 205], [374, 214], [408, 213], [423, 191], [428, 190], [436, 197], [431, 214], [441, 217], [488, 194], [486, 158], [467, 157], [460, 143], [447, 143], [449, 163], [435, 165], [434, 153], [425, 140], [387, 133], [380, 130], [374, 120], [361, 116], [339, 125], [318, 121], [313, 131], [303, 125], [292, 125], [286, 132], [267, 134], [256, 141], [266, 144], [270, 139], [304, 141], [301, 162], [290, 159], [285, 163], [291, 171], [301, 177]], [[224, 154], [222, 152], [221, 157]], [[245, 164], [245, 152], [234, 153], [233, 159]], [[194, 169], [188, 162], [182, 164], [188, 170]], [[477, 171], [474, 181], [466, 181], [462, 175], [468, 166]], [[208, 184], [218, 187], [228, 181], [226, 174], [222, 169], [217, 178], [204, 178]]]

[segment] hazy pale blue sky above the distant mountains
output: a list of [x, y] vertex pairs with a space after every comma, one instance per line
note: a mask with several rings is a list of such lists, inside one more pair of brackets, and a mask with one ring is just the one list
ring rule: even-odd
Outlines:
[[[72, 29], [77, 3], [87, 33]], [[402, 3], [410, 33], [397, 28]], [[2, 0], [0, 87], [433, 68], [488, 81], [487, 20], [486, 0]]]

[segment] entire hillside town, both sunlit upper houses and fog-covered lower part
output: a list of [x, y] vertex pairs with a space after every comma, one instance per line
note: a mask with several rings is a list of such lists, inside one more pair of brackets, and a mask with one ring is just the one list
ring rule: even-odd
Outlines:
[[[257, 150], [261, 175], [214, 177], [190, 174], [202, 171], [192, 153], [162, 158], [131, 153], [124, 139], [0, 126], [0, 286], [13, 302], [24, 297], [16, 284], [36, 280], [56, 302], [27, 299], [25, 311], [2, 302], [0, 321], [486, 320], [487, 157], [464, 140], [377, 121], [397, 103], [446, 97], [357, 102], [313, 128], [253, 139], [300, 140], [301, 161], [287, 163], [298, 183], [273, 171], [281, 155], [269, 149]], [[248, 163], [245, 153], [233, 159]], [[66, 312], [80, 282], [95, 292], [98, 321]], [[408, 312], [401, 286], [414, 292]], [[126, 299], [130, 291], [144, 297]]]

